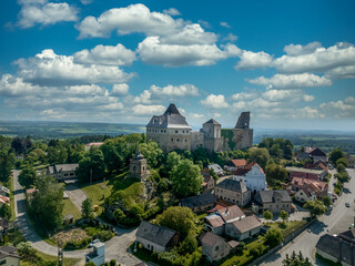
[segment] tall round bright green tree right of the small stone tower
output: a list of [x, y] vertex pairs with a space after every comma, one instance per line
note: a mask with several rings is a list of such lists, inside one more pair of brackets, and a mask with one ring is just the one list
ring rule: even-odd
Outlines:
[[203, 182], [199, 165], [187, 158], [180, 161], [173, 167], [170, 180], [175, 194], [181, 197], [199, 193]]

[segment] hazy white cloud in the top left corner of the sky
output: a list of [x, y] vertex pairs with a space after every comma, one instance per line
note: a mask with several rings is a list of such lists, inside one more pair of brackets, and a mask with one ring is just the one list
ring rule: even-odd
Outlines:
[[47, 0], [19, 2], [22, 6], [18, 21], [21, 28], [31, 28], [37, 23], [48, 25], [78, 20], [79, 9], [67, 2], [48, 2]]

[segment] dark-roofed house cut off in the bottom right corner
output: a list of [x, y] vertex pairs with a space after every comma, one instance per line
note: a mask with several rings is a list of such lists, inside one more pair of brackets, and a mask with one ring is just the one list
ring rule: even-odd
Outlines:
[[343, 266], [355, 265], [355, 229], [349, 229], [339, 235], [325, 234], [316, 244], [316, 253], [322, 257]]

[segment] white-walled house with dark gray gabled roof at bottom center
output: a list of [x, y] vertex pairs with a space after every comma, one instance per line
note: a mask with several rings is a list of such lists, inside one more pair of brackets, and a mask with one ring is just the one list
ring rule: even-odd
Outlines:
[[136, 242], [151, 252], [166, 252], [179, 243], [175, 231], [142, 221], [136, 233]]

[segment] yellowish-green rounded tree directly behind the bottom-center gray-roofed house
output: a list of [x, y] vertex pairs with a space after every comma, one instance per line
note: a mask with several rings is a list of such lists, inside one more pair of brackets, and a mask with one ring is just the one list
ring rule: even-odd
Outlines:
[[176, 231], [182, 237], [195, 233], [194, 214], [187, 207], [169, 207], [158, 215], [156, 223], [161, 226]]

